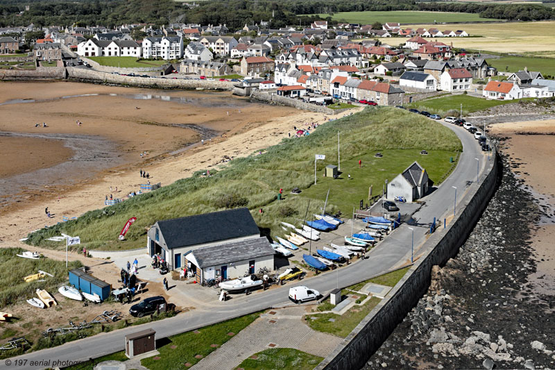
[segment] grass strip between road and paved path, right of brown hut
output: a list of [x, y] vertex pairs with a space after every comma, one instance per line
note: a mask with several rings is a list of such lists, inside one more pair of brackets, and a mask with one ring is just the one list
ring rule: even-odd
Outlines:
[[[196, 355], [203, 358], [228, 342], [232, 338], [230, 333], [237, 334], [259, 317], [259, 313], [237, 317], [199, 330], [190, 331], [169, 337], [166, 343], [157, 345], [160, 355], [141, 360], [142, 366], [150, 370], [186, 369], [200, 361]], [[197, 333], [195, 333], [197, 332]], [[216, 344], [216, 346], [212, 346]], [[172, 348], [173, 347], [173, 348]], [[184, 366], [185, 365], [185, 366]]]

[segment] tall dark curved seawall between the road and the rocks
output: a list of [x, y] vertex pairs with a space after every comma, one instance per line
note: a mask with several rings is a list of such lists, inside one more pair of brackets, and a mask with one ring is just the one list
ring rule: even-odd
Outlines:
[[432, 267], [444, 265], [458, 253], [472, 226], [476, 224], [493, 196], [498, 176], [496, 158], [494, 153], [480, 179], [480, 184], [471, 185], [463, 201], [457, 206], [456, 217], [450, 225], [437, 230], [427, 239], [423, 246], [422, 258], [416, 261], [391, 289], [386, 299], [382, 300], [321, 364], [318, 364], [316, 370], [364, 367], [370, 356], [426, 292]]

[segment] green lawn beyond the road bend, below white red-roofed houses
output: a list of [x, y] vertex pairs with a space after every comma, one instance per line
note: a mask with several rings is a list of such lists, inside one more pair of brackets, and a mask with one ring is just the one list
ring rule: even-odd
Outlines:
[[[529, 99], [522, 99], [529, 100]], [[501, 106], [503, 104], [517, 103], [518, 100], [487, 100], [485, 98], [478, 98], [476, 96], [470, 95], [445, 95], [440, 98], [430, 98], [426, 100], [416, 101], [414, 103], [407, 104], [407, 108], [416, 108], [418, 110], [426, 110], [430, 113], [437, 113], [441, 115], [442, 119], [447, 115], [459, 116], [459, 111], [461, 109], [461, 104], [463, 105], [463, 117], [471, 112], [477, 112], [478, 110], [484, 110], [495, 106]]]

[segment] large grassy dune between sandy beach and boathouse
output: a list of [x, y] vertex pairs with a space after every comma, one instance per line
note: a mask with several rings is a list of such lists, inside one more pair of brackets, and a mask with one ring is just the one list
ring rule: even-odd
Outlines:
[[[337, 162], [338, 131], [341, 131], [343, 174], [340, 179], [332, 180], [323, 178], [322, 174], [325, 166]], [[420, 155], [421, 149], [430, 155]], [[220, 171], [211, 169], [210, 177], [202, 176], [203, 171], [199, 171], [191, 178], [178, 180], [155, 192], [39, 230], [29, 235], [28, 243], [56, 247], [46, 238], [67, 233], [80, 236], [84, 244], [80, 248], [137, 248], [145, 243], [146, 228], [157, 220], [244, 205], [250, 208], [259, 227], [275, 235], [274, 232], [282, 231], [280, 221], [296, 223], [304, 218], [309, 199], [316, 200], [310, 203], [309, 215], [321, 212], [330, 187], [334, 189], [327, 211], [341, 210], [349, 217], [352, 207], [360, 199], [367, 199], [370, 185], [374, 185], [374, 194], [381, 192], [384, 180], [391, 180], [413, 160], [422, 162], [429, 176], [437, 180], [450, 169], [449, 159], [459, 150], [461, 142], [456, 135], [434, 121], [398, 108], [366, 108], [356, 115], [330, 121], [307, 137], [284, 139], [262, 155], [232, 160]], [[384, 158], [372, 164], [376, 151], [382, 151]], [[326, 160], [317, 163], [320, 180], [316, 186], [315, 154], [326, 155]], [[358, 168], [360, 158], [364, 159], [362, 169]], [[346, 178], [347, 171], [352, 171], [352, 180]], [[299, 187], [302, 193], [289, 194], [293, 187]], [[284, 190], [283, 201], [277, 201], [280, 188]], [[264, 213], [258, 212], [260, 208]], [[128, 240], [116, 242], [119, 230], [130, 217], [137, 217], [137, 221], [126, 235]]]

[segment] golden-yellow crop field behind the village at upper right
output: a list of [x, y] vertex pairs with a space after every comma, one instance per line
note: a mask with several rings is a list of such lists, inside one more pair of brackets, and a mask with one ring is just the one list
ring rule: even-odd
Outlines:
[[[483, 37], [442, 37], [441, 41], [454, 47], [495, 51], [497, 53], [526, 53], [527, 56], [555, 57], [555, 22], [522, 22], [491, 24], [459, 24], [456, 27], [447, 24], [414, 24], [411, 27], [436, 27], [441, 31], [448, 28], [463, 29], [470, 36]], [[431, 40], [431, 39], [430, 39]], [[391, 45], [402, 44], [405, 37], [381, 39]]]

